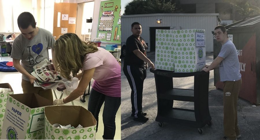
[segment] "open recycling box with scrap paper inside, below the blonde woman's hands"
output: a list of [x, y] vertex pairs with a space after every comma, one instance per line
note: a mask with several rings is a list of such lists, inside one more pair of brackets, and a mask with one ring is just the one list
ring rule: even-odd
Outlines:
[[[96, 119], [81, 106], [45, 107], [44, 139], [95, 139]], [[53, 124], [75, 128], [57, 128]], [[83, 128], [76, 128], [78, 125]]]

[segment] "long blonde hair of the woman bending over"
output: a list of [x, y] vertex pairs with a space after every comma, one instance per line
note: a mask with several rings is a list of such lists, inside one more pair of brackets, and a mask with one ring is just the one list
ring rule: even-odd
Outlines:
[[61, 76], [71, 80], [83, 67], [85, 55], [98, 51], [94, 42], [83, 42], [75, 33], [65, 33], [60, 36], [54, 46], [55, 68]]

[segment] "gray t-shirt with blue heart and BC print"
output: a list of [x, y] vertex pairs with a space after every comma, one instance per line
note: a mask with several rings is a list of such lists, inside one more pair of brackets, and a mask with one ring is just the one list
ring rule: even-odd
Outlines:
[[[39, 31], [32, 40], [28, 40], [22, 34], [17, 36], [13, 43], [11, 58], [22, 60], [23, 68], [31, 74], [33, 66], [47, 58], [49, 60], [48, 47], [53, 48], [55, 39], [50, 31], [39, 28]], [[23, 75], [22, 79], [29, 81]]]

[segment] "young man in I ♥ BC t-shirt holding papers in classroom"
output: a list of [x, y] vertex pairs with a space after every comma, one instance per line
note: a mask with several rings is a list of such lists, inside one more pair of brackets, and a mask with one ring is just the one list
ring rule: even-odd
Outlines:
[[[54, 46], [55, 39], [51, 32], [36, 27], [34, 16], [29, 12], [21, 13], [17, 23], [21, 34], [13, 42], [11, 58], [13, 58], [14, 67], [23, 74], [23, 93], [34, 92], [53, 101], [51, 89], [44, 90], [41, 87], [34, 87], [33, 83], [37, 79], [31, 75], [31, 72], [34, 70], [34, 65], [45, 58], [49, 59], [48, 47]], [[52, 51], [52, 55], [53, 53]], [[22, 60], [22, 65], [20, 60]]]

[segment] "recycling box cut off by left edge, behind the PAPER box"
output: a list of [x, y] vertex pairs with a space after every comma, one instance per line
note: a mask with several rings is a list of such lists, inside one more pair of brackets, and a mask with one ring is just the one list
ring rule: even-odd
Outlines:
[[1, 137], [3, 120], [4, 120], [4, 116], [5, 116], [5, 107], [6, 107], [7, 96], [9, 94], [14, 94], [14, 91], [9, 83], [1, 83], [0, 88], [10, 88], [11, 89], [11, 92], [0, 93], [0, 137]]

